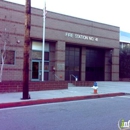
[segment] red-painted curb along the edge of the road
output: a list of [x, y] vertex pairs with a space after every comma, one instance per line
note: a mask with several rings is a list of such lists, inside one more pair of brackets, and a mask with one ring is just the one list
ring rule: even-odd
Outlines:
[[27, 99], [27, 100], [20, 101], [20, 102], [0, 103], [0, 109], [10, 108], [10, 107], [46, 104], [46, 103], [56, 103], [56, 102], [66, 102], [66, 101], [75, 101], [75, 100], [123, 96], [123, 95], [126, 95], [126, 94], [120, 92], [120, 93], [95, 94], [95, 95], [87, 95], [87, 96], [63, 97], [63, 98], [53, 98], [53, 99], [38, 99], [38, 100]]

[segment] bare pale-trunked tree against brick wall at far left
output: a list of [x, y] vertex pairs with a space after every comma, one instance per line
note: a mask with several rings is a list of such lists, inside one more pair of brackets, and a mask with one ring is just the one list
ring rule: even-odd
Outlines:
[[[8, 14], [4, 16], [4, 19], [1, 20], [1, 25], [2, 25], [2, 32], [0, 34], [0, 82], [2, 82], [2, 77], [3, 77], [3, 71], [4, 71], [4, 65], [6, 58], [8, 56], [7, 52], [9, 51], [9, 44], [11, 44], [10, 41], [10, 32], [15, 34], [16, 32], [16, 27], [15, 24], [12, 26], [9, 22], [8, 19], [12, 19], [12, 15], [9, 13], [9, 10], [7, 11]], [[12, 36], [11, 36], [12, 37]], [[15, 40], [17, 40], [16, 37], [14, 37]], [[19, 43], [16, 41], [16, 43]], [[8, 51], [7, 51], [8, 50]]]

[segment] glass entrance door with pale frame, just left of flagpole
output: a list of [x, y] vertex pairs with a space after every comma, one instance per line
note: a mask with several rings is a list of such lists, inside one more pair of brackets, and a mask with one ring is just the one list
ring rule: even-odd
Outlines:
[[40, 61], [32, 61], [32, 80], [39, 81], [41, 78]]

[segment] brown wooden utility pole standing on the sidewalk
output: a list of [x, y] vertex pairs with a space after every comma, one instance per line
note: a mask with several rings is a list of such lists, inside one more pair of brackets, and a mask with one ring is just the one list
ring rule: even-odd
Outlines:
[[29, 53], [31, 29], [31, 0], [25, 5], [25, 34], [24, 34], [24, 61], [23, 61], [23, 98], [29, 99]]

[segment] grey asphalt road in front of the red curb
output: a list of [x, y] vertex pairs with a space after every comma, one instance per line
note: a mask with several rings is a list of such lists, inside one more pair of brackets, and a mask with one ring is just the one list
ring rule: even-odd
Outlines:
[[0, 110], [0, 130], [118, 130], [130, 120], [130, 96]]

